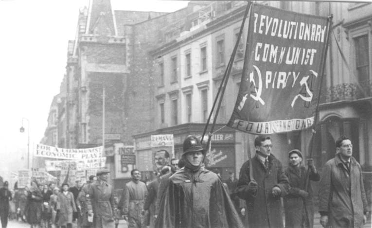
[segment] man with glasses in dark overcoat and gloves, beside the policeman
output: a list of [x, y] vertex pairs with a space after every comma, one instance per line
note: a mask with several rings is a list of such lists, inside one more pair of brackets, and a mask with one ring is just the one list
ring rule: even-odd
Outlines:
[[[270, 137], [257, 136], [254, 147], [256, 155], [240, 169], [235, 193], [246, 200], [249, 227], [283, 228], [280, 197], [288, 192], [288, 178], [282, 163], [271, 153]], [[253, 179], [249, 177], [249, 164]]]

